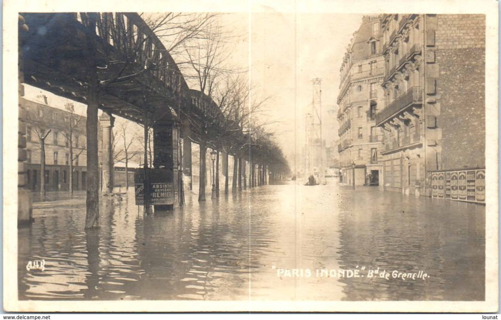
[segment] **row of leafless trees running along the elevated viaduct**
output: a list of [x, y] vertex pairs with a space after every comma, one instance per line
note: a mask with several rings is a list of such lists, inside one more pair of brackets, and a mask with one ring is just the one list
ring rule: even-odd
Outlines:
[[[103, 16], [104, 15], [104, 16]], [[81, 23], [85, 28], [86, 39], [86, 75], [87, 75], [87, 200], [86, 200], [86, 228], [99, 227], [99, 170], [98, 170], [98, 108], [101, 106], [101, 93], [112, 88], [115, 84], [130, 81], [147, 74], [160, 72], [168, 64], [157, 63], [143, 57], [145, 48], [151, 47], [148, 37], [144, 37], [138, 28], [129, 28], [124, 17], [97, 13], [80, 13]], [[224, 154], [233, 155], [234, 168], [241, 171], [243, 159], [252, 164], [264, 165], [274, 157], [276, 163], [284, 165], [283, 155], [278, 152], [274, 144], [273, 133], [267, 128], [266, 122], [260, 121], [260, 111], [268, 99], [254, 95], [253, 86], [241, 69], [231, 66], [229, 57], [232, 53], [230, 44], [232, 35], [228, 34], [218, 24], [218, 14], [174, 14], [142, 15], [144, 22], [151, 31], [162, 41], [168, 53], [175, 59], [176, 65], [182, 72], [188, 85], [196, 86], [199, 91], [199, 100], [210, 100], [217, 108], [202, 108], [202, 119], [195, 121], [189, 114], [181, 114], [193, 126], [197, 134], [186, 133], [186, 141], [197, 143], [200, 146], [200, 155], [205, 155], [207, 148]], [[112, 24], [111, 37], [115, 47], [120, 47], [120, 55], [114, 55], [109, 61], [97, 59], [96, 33], [107, 30], [106, 24]], [[120, 32], [118, 32], [118, 29]], [[103, 35], [100, 35], [103, 37]], [[122, 39], [123, 38], [123, 39]], [[152, 53], [154, 57], [160, 57]], [[161, 56], [167, 59], [168, 55]], [[179, 75], [180, 76], [180, 75]], [[144, 103], [148, 103], [148, 93], [144, 90]], [[215, 111], [214, 111], [215, 110]], [[149, 132], [145, 122], [145, 133]], [[118, 134], [123, 134], [124, 144], [122, 152], [118, 152], [116, 159], [123, 159], [126, 163], [130, 159], [129, 153], [132, 140], [126, 138], [126, 128]], [[148, 134], [145, 134], [144, 154], [147, 162]], [[46, 135], [41, 135], [45, 139]], [[151, 150], [151, 148], [150, 148]], [[266, 154], [266, 155], [265, 155]], [[282, 158], [281, 158], [282, 157]], [[201, 156], [200, 163], [200, 193], [199, 199], [205, 196], [205, 157]], [[281, 162], [282, 161], [282, 162]], [[238, 165], [240, 163], [240, 165]], [[127, 164], [126, 164], [127, 165]], [[282, 169], [285, 170], [286, 167]], [[241, 172], [240, 172], [241, 173]], [[235, 176], [235, 175], [234, 175]], [[238, 174], [236, 176], [240, 176]], [[43, 181], [43, 179], [42, 179]], [[233, 182], [234, 183], [234, 182]], [[203, 190], [202, 187], [203, 186]]]

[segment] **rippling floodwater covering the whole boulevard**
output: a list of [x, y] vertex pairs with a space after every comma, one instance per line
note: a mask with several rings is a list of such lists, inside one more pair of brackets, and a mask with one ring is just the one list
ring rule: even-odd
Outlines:
[[133, 195], [101, 198], [97, 231], [84, 231], [85, 193], [35, 203], [35, 223], [18, 230], [19, 298], [484, 299], [481, 205], [334, 178], [200, 203], [187, 192], [181, 209], [147, 216]]

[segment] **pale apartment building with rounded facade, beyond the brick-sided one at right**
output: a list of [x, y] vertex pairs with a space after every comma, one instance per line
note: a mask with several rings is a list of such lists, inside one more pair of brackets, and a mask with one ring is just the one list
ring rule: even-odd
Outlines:
[[342, 181], [383, 185], [383, 134], [376, 112], [383, 103], [384, 57], [380, 16], [365, 16], [341, 65], [337, 99]]

